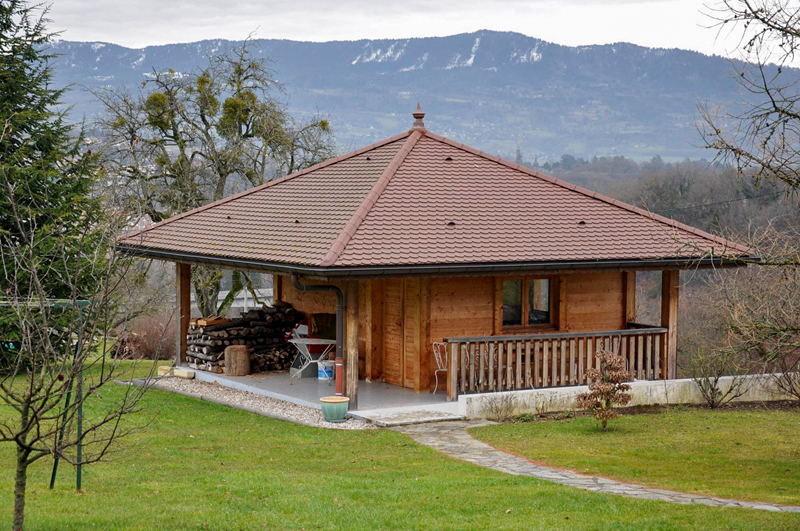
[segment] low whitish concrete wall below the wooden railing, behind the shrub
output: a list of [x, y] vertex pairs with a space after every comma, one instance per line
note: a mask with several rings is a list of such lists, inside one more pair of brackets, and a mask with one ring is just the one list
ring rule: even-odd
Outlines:
[[[733, 377], [720, 379], [719, 386], [724, 393], [731, 385]], [[700, 389], [692, 379], [657, 380], [631, 382], [630, 406], [704, 404]], [[745, 392], [734, 402], [766, 402], [786, 400], [769, 375], [747, 376]], [[508, 415], [523, 413], [543, 414], [561, 411], [576, 411], [576, 398], [589, 391], [589, 387], [555, 387], [550, 389], [528, 389], [502, 393], [480, 393], [460, 395], [458, 412], [468, 419], [485, 419], [496, 416], [498, 409]]]

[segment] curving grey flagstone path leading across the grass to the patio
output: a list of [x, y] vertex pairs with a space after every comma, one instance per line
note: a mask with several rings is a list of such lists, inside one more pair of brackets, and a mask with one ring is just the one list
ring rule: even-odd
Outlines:
[[613, 479], [585, 476], [569, 470], [559, 470], [537, 465], [524, 457], [512, 455], [482, 443], [467, 433], [468, 428], [487, 426], [489, 424], [493, 423], [489, 421], [437, 422], [434, 424], [417, 424], [392, 429], [405, 433], [417, 442], [451, 457], [515, 476], [530, 476], [593, 492], [619, 494], [620, 496], [627, 496], [629, 498], [666, 501], [682, 505], [697, 504], [709, 505], [712, 507], [744, 507], [763, 511], [800, 513], [800, 507], [793, 505], [746, 502], [717, 498], [714, 496], [703, 496], [700, 494], [686, 494], [671, 490], [634, 485], [632, 483], [623, 483]]

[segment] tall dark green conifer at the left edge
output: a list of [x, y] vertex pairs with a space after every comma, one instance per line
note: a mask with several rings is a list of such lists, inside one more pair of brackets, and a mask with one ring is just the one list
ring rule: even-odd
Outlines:
[[[22, 0], [0, 3], [0, 240], [35, 254], [47, 296], [65, 298], [73, 285], [87, 293], [93, 286], [65, 281], [74, 268], [56, 263], [54, 246], [75, 245], [69, 253], [75, 259], [87, 252], [86, 233], [97, 226], [101, 209], [92, 197], [96, 157], [83, 131], [56, 110], [64, 90], [52, 87], [48, 43], [54, 34], [47, 31], [46, 15]], [[11, 285], [14, 264], [8, 259], [0, 256], [6, 272], [0, 274], [0, 295], [24, 296], [25, 278]], [[0, 318], [0, 334], [3, 324]]]

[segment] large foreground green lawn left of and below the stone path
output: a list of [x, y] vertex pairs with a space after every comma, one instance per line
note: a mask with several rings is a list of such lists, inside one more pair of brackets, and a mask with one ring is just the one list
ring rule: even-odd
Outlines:
[[[800, 528], [797, 515], [631, 500], [514, 477], [391, 431], [307, 428], [159, 391], [145, 400], [155, 422], [115, 461], [86, 468], [83, 493], [73, 490], [70, 467], [52, 492], [50, 463], [34, 467], [27, 529]], [[578, 432], [581, 423], [571, 426]], [[12, 463], [12, 447], [0, 446], [6, 527]]]

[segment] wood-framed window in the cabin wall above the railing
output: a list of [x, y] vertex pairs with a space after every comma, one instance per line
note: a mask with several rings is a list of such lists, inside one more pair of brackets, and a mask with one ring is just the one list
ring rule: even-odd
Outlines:
[[549, 279], [525, 278], [503, 281], [503, 327], [549, 324]]

